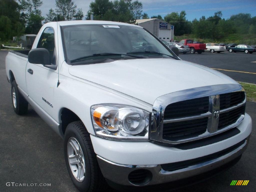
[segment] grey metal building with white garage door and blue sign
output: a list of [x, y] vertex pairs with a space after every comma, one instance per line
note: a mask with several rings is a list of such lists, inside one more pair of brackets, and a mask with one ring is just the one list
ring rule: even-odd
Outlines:
[[147, 29], [159, 39], [173, 42], [174, 26], [161, 19], [137, 19], [136, 24]]

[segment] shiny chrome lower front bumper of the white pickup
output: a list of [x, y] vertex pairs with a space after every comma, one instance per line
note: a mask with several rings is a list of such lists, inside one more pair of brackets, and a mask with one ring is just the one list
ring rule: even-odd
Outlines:
[[[228, 164], [242, 155], [248, 145], [248, 140], [249, 137], [241, 141], [241, 145], [237, 148], [234, 148], [223, 156], [173, 171], [166, 171], [161, 165], [121, 165], [108, 161], [98, 155], [97, 159], [103, 176], [113, 183], [126, 186], [156, 185], [203, 174]], [[143, 152], [141, 155], [143, 155]], [[194, 159], [191, 160], [193, 161]], [[147, 179], [146, 182], [142, 182], [141, 185], [129, 181], [129, 174], [139, 169], [146, 169], [151, 173], [151, 178], [149, 180]]]

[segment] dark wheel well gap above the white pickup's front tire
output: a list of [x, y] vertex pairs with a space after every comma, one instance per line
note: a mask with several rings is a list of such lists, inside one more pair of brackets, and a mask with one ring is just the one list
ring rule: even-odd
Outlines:
[[65, 134], [66, 128], [69, 123], [73, 121], [80, 121], [81, 119], [71, 110], [63, 108], [61, 110], [61, 129], [63, 134]]

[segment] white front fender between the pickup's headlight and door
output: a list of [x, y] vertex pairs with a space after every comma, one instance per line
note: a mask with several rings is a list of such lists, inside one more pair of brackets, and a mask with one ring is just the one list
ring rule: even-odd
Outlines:
[[113, 103], [131, 105], [149, 112], [152, 111], [151, 104], [98, 84], [65, 76], [60, 76], [60, 85], [56, 89], [54, 96], [55, 107], [58, 110], [54, 118], [61, 122], [61, 110], [67, 108], [81, 119], [87, 131], [93, 135], [95, 135], [95, 132], [91, 120], [92, 105]]

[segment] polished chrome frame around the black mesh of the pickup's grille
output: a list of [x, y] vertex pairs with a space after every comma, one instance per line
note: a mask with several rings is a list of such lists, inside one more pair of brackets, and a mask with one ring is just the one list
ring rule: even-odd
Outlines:
[[[200, 97], [209, 97], [209, 100], [210, 100], [210, 96], [224, 94], [224, 93], [230, 93], [230, 92], [238, 92], [238, 91], [244, 91], [243, 87], [240, 84], [220, 84], [220, 85], [212, 85], [212, 86], [205, 86], [205, 87], [198, 87], [198, 88], [177, 91], [174, 93], [169, 93], [169, 94], [162, 95], [162, 96], [158, 97], [155, 100], [155, 102], [153, 104], [153, 109], [152, 109], [150, 139], [154, 140], [154, 141], [158, 141], [158, 142], [163, 142], [163, 143], [179, 144], [179, 143], [194, 141], [194, 140], [202, 139], [205, 137], [213, 136], [213, 135], [219, 134], [223, 131], [226, 131], [228, 129], [231, 129], [235, 126], [238, 126], [241, 123], [242, 119], [244, 118], [244, 115], [241, 115], [236, 123], [229, 125], [221, 130], [216, 130], [215, 132], [212, 132], [212, 133], [210, 133], [208, 130], [206, 130], [205, 133], [203, 133], [197, 137], [188, 138], [188, 139], [184, 139], [184, 140], [178, 140], [178, 141], [169, 141], [169, 140], [163, 139], [163, 124], [168, 123], [168, 121], [170, 122], [172, 120], [176, 121], [176, 119], [164, 120], [164, 111], [165, 111], [165, 108], [167, 107], [167, 105], [176, 103], [179, 101], [196, 99], [196, 98], [200, 98]], [[245, 101], [243, 102], [243, 104], [244, 103], [245, 103]], [[209, 102], [209, 105], [210, 105], [210, 102]], [[224, 110], [227, 110], [227, 109], [224, 109]], [[224, 111], [224, 110], [222, 110], [222, 111]], [[212, 111], [209, 111], [209, 113], [211, 113], [211, 112]], [[210, 116], [211, 116], [211, 114], [210, 114]], [[209, 117], [209, 118], [211, 118], [211, 117]], [[186, 118], [180, 118], [180, 119], [182, 119], [184, 121], [186, 120]]]

